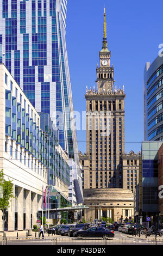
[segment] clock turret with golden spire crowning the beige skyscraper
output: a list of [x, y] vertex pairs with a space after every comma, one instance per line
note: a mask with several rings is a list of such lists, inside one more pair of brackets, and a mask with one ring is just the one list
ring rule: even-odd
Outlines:
[[106, 21], [105, 21], [105, 9], [104, 9], [104, 35], [103, 35], [103, 47], [99, 52], [99, 63], [97, 65], [97, 89], [99, 92], [111, 92], [114, 83], [114, 68], [110, 67], [111, 52], [108, 50], [106, 39]]

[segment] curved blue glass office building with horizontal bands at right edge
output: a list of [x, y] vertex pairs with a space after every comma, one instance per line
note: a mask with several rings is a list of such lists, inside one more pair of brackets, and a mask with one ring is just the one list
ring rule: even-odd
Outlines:
[[163, 57], [146, 63], [144, 71], [144, 139], [163, 140]]

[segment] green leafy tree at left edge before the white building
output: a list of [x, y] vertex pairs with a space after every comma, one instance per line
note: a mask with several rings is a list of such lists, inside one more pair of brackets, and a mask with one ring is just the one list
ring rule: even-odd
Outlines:
[[13, 195], [13, 184], [11, 180], [4, 179], [3, 169], [0, 170], [0, 187], [2, 188], [2, 198], [0, 197], [0, 209], [6, 209], [10, 204], [10, 199], [15, 198]]

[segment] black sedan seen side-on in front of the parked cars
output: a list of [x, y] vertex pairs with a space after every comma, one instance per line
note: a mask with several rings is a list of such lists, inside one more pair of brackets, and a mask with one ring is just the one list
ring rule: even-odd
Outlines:
[[103, 227], [93, 227], [87, 230], [80, 230], [73, 234], [74, 237], [114, 237], [114, 231]]

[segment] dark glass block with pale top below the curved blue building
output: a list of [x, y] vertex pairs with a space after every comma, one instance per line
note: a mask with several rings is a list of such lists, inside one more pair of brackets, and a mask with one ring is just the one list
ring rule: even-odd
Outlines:
[[152, 224], [159, 223], [159, 149], [162, 142], [142, 142], [140, 169], [140, 209], [142, 222], [151, 217]]

